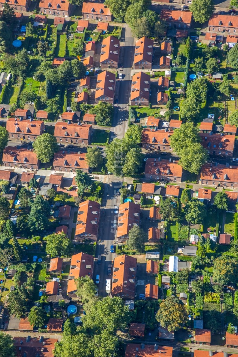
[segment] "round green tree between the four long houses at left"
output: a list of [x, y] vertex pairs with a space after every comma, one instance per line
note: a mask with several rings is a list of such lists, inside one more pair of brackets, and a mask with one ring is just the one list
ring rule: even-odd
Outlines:
[[41, 162], [49, 162], [59, 150], [56, 137], [49, 133], [39, 135], [33, 143], [33, 149]]

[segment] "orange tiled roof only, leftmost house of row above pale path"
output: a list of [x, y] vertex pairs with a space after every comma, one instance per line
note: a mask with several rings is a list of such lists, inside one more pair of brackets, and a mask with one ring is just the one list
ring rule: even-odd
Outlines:
[[[14, 161], [15, 159], [15, 161]], [[3, 162], [21, 162], [24, 164], [39, 165], [39, 160], [34, 151], [16, 149], [15, 146], [7, 146], [3, 150]]]

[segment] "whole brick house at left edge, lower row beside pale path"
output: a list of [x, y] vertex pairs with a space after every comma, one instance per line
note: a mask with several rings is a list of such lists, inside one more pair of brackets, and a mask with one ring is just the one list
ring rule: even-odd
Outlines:
[[15, 146], [7, 146], [3, 150], [3, 164], [7, 167], [22, 167], [24, 169], [39, 169], [40, 161], [34, 151], [16, 149]]

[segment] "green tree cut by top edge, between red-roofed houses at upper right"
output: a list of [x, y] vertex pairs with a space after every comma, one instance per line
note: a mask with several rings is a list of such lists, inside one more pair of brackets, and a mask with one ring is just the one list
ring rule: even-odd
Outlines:
[[194, 20], [203, 24], [215, 12], [215, 7], [213, 0], [195, 0], [189, 6], [189, 10], [193, 13]]

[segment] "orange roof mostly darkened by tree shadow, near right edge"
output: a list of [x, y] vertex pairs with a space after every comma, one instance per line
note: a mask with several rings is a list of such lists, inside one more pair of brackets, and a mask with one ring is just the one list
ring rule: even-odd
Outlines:
[[[235, 135], [221, 136], [220, 134], [207, 135], [205, 133], [199, 133], [199, 136], [202, 139], [201, 144], [205, 149], [214, 150], [215, 148], [215, 149], [220, 149], [220, 151], [234, 150]], [[221, 147], [219, 147], [219, 145]]]

